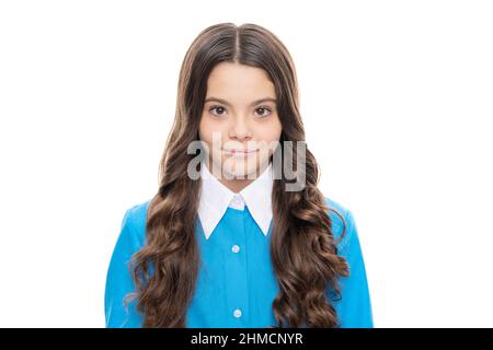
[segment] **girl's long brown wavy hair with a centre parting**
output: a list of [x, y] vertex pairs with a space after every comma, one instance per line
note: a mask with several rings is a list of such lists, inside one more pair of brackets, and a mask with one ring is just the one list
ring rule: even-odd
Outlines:
[[[200, 180], [187, 176], [187, 164], [195, 156], [188, 154], [187, 145], [198, 140], [208, 75], [223, 61], [265, 70], [275, 85], [280, 143], [305, 141], [295, 66], [284, 44], [272, 32], [251, 23], [220, 23], [199, 33], [180, 70], [175, 118], [159, 164], [159, 190], [147, 212], [146, 244], [129, 266], [136, 291], [126, 296], [137, 299], [142, 327], [185, 327], [200, 262], [194, 232], [202, 186]], [[298, 168], [296, 160], [295, 151], [289, 161]], [[279, 285], [272, 303], [274, 327], [337, 327], [326, 291], [337, 300], [342, 298], [339, 277], [348, 276], [348, 266], [337, 255], [339, 242], [326, 211], [344, 219], [326, 206], [317, 188], [319, 167], [308, 149], [305, 170], [301, 190], [286, 190], [284, 176], [274, 179], [270, 254]], [[340, 240], [345, 231], [344, 222]]]

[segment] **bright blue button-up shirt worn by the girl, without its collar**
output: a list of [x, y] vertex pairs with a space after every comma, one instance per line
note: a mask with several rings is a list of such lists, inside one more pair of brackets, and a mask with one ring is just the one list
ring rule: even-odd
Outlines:
[[[125, 310], [123, 299], [135, 291], [127, 262], [145, 243], [146, 213], [150, 200], [128, 209], [122, 222], [111, 257], [105, 287], [106, 327], [141, 327], [144, 316], [136, 301]], [[341, 300], [332, 300], [341, 327], [374, 326], [365, 264], [353, 213], [325, 197], [329, 207], [345, 219], [346, 234], [340, 242], [339, 255], [349, 265], [349, 277], [341, 277]], [[343, 232], [343, 222], [333, 211], [335, 238]], [[186, 313], [186, 327], [270, 327], [275, 326], [272, 302], [279, 289], [270, 260], [270, 237], [253, 220], [248, 207], [228, 207], [214, 234], [206, 240], [200, 220], [196, 222], [196, 240], [202, 266], [195, 294]], [[329, 291], [328, 296], [330, 298]]]

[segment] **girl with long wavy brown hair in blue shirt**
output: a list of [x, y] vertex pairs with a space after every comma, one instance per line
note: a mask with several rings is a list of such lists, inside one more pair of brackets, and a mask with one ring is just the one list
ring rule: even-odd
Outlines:
[[355, 220], [317, 188], [298, 103], [264, 27], [192, 43], [159, 190], [126, 211], [110, 261], [106, 327], [372, 327]]

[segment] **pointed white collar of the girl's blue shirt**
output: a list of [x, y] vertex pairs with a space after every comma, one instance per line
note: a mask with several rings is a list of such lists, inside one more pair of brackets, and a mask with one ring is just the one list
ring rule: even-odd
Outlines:
[[239, 194], [236, 194], [222, 185], [210, 173], [205, 163], [202, 162], [202, 192], [198, 203], [198, 217], [206, 240], [213, 234], [214, 229], [216, 229], [228, 207], [243, 209], [244, 205], [246, 205], [253, 219], [266, 236], [273, 218], [272, 188], [274, 179], [272, 174], [272, 163], [270, 163], [257, 178]]

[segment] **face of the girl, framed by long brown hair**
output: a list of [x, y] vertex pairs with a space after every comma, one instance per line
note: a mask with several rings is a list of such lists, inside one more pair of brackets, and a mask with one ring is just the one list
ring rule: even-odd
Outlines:
[[256, 171], [268, 165], [280, 132], [275, 88], [267, 73], [240, 63], [217, 65], [207, 80], [198, 133], [209, 164], [222, 171], [220, 179], [253, 180]]

